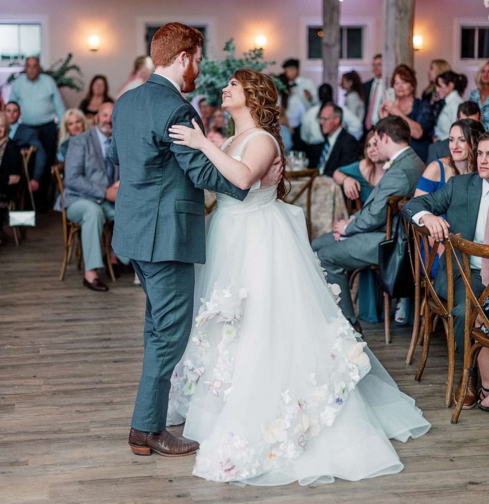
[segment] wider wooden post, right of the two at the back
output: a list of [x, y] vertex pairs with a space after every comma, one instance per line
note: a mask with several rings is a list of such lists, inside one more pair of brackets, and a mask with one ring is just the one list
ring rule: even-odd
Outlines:
[[414, 5], [415, 0], [384, 0], [382, 74], [385, 89], [390, 87], [392, 72], [397, 65], [414, 66]]

